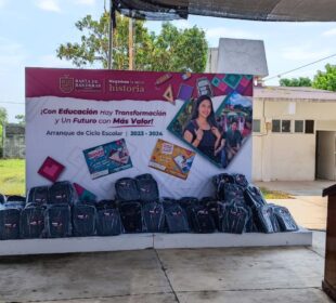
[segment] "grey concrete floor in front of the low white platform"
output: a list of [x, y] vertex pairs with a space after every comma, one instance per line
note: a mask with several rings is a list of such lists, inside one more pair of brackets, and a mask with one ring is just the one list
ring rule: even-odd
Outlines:
[[172, 249], [0, 259], [0, 302], [332, 302], [325, 233], [309, 248]]

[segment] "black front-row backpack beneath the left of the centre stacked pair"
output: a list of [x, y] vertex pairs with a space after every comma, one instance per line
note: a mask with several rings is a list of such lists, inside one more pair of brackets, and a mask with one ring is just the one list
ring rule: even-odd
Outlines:
[[121, 202], [119, 212], [126, 233], [143, 232], [142, 206], [139, 201]]

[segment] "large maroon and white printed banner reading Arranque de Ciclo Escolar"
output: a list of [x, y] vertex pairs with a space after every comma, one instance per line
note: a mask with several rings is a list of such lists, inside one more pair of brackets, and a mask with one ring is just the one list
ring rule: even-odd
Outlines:
[[212, 195], [215, 174], [250, 179], [251, 96], [249, 75], [27, 68], [27, 189], [67, 180], [111, 199], [151, 173], [160, 196]]

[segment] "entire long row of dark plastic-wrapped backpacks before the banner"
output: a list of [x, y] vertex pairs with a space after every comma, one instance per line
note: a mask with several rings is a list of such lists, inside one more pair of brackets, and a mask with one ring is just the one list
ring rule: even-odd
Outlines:
[[216, 197], [159, 197], [151, 174], [116, 181], [114, 200], [80, 200], [70, 182], [0, 195], [0, 239], [116, 236], [122, 233], [277, 233], [298, 229], [242, 174], [212, 179]]

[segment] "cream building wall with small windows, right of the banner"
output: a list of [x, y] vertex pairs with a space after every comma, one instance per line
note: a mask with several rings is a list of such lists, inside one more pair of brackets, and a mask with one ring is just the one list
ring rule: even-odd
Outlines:
[[[336, 131], [336, 102], [254, 100], [254, 119], [260, 119], [261, 132], [253, 136], [253, 180], [312, 181], [315, 179], [314, 134], [294, 133], [295, 120], [314, 120], [319, 130]], [[293, 109], [293, 107], [292, 107]], [[292, 133], [272, 133], [267, 122], [272, 119], [292, 120]], [[335, 145], [335, 141], [333, 142]], [[326, 166], [335, 161], [325, 159]]]

